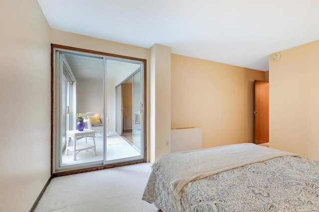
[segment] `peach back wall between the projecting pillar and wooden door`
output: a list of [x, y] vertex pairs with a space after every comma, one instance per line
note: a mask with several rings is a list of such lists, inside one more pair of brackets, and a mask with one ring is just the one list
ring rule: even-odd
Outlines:
[[265, 73], [171, 54], [171, 127], [202, 127], [203, 148], [253, 142], [254, 80]]

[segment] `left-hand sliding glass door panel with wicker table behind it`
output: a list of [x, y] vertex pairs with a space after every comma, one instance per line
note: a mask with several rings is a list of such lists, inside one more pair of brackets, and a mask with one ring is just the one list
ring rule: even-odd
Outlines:
[[103, 58], [59, 50], [55, 59], [55, 171], [102, 165]]

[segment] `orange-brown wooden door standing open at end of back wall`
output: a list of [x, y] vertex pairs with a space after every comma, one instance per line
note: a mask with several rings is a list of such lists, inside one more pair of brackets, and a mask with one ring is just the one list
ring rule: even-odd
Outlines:
[[255, 80], [254, 143], [269, 142], [269, 82]]

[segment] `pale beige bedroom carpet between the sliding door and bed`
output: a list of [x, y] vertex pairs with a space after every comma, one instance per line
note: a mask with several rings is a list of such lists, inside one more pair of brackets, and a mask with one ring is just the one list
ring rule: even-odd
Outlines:
[[142, 201], [151, 163], [53, 178], [34, 212], [157, 212]]

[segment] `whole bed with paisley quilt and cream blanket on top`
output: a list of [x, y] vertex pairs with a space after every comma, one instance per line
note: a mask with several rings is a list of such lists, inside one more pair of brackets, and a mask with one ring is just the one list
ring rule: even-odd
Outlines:
[[318, 212], [319, 162], [252, 143], [166, 154], [142, 200], [162, 212]]

